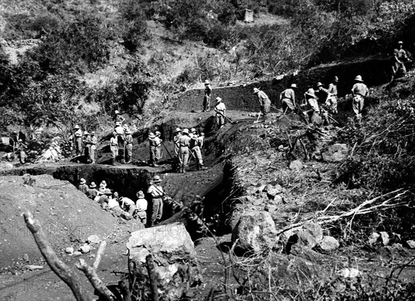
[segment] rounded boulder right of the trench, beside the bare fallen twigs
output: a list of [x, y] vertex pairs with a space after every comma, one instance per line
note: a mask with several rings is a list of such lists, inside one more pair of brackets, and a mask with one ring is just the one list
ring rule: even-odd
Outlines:
[[245, 252], [272, 248], [277, 242], [275, 223], [269, 212], [253, 211], [241, 215], [232, 230], [232, 244]]

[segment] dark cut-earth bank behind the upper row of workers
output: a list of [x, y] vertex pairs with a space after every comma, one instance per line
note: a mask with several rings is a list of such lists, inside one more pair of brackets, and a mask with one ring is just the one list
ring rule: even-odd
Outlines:
[[[211, 107], [216, 104], [215, 98], [220, 97], [228, 110], [259, 111], [257, 97], [252, 94], [255, 87], [261, 88], [270, 98], [275, 107], [282, 106], [279, 101], [279, 93], [286, 87], [295, 83], [298, 86], [297, 98], [303, 98], [303, 93], [317, 82], [329, 86], [333, 77], [339, 77], [338, 93], [340, 96], [350, 93], [353, 79], [356, 75], [362, 75], [368, 86], [378, 86], [387, 82], [387, 72], [390, 62], [385, 59], [360, 60], [356, 62], [338, 63], [318, 66], [306, 71], [299, 71], [297, 75], [288, 74], [281, 80], [264, 80], [252, 84], [240, 84], [238, 86], [215, 87], [211, 95]], [[176, 111], [202, 110], [204, 89], [192, 89], [183, 92], [176, 102]]]

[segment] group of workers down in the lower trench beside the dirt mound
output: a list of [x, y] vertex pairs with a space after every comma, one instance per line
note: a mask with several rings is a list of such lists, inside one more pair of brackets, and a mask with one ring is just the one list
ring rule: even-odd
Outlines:
[[[147, 190], [152, 204], [151, 218], [148, 225], [150, 227], [158, 224], [163, 215], [163, 197], [165, 197], [165, 193], [160, 186], [160, 182], [160, 176], [154, 176]], [[104, 210], [110, 211], [116, 217], [122, 217], [127, 220], [136, 219], [147, 225], [148, 202], [142, 190], [137, 192], [137, 200], [133, 201], [128, 197], [120, 197], [118, 192], [112, 192], [111, 189], [107, 188], [106, 181], [101, 181], [99, 188], [97, 188], [95, 182], [91, 182], [90, 185], [86, 184], [84, 178], [80, 179], [78, 190], [86, 194], [89, 199], [100, 203]]]

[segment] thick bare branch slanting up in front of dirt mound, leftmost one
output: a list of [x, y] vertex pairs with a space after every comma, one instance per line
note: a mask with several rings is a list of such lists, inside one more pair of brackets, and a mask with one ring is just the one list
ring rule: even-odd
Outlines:
[[86, 293], [82, 290], [82, 284], [79, 276], [76, 273], [71, 271], [71, 268], [64, 264], [56, 255], [52, 246], [50, 245], [48, 239], [44, 235], [42, 226], [40, 225], [37, 219], [33, 218], [32, 213], [24, 213], [24, 221], [26, 226], [32, 232], [33, 238], [36, 241], [37, 247], [42, 253], [44, 259], [50, 266], [50, 269], [55, 272], [55, 274], [65, 282], [71, 289], [75, 299], [77, 301], [86, 301], [89, 300]]

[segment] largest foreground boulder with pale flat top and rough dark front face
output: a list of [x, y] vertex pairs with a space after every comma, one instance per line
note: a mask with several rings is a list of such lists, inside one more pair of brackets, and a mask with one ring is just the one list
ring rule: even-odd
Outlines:
[[146, 264], [149, 254], [154, 258], [160, 300], [179, 300], [201, 284], [194, 244], [181, 223], [132, 232], [127, 248], [130, 277], [145, 295], [151, 294]]

